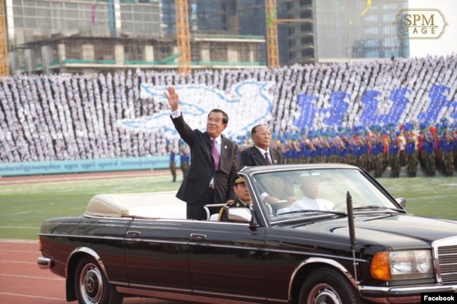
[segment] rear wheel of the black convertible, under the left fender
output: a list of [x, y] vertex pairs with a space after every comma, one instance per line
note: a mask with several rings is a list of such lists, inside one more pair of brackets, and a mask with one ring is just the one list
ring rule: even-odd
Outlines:
[[79, 261], [75, 275], [79, 304], [121, 304], [122, 296], [108, 283], [100, 265], [90, 256]]

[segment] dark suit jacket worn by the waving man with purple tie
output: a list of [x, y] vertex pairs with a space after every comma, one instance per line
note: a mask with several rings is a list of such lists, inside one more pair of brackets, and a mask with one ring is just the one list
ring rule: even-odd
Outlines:
[[191, 148], [191, 166], [179, 187], [176, 197], [188, 204], [196, 204], [203, 196], [214, 176], [214, 202], [225, 203], [235, 199], [233, 176], [238, 171], [238, 145], [221, 136], [221, 162], [214, 172], [214, 159], [211, 154], [211, 139], [207, 132], [192, 130], [184, 121], [183, 115], [172, 119], [176, 131]]

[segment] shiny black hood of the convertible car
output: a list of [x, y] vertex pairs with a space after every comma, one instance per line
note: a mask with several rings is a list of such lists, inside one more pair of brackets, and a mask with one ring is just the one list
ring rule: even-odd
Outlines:
[[[354, 227], [358, 245], [378, 244], [388, 249], [427, 248], [437, 239], [457, 236], [457, 221], [411, 214], [355, 215]], [[349, 238], [347, 217], [316, 221], [298, 229], [331, 233]]]

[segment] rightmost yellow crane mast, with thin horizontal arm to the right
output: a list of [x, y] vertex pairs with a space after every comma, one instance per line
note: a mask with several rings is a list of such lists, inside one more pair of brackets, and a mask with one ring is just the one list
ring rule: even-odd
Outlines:
[[268, 67], [279, 67], [278, 24], [286, 22], [311, 22], [309, 19], [278, 19], [276, 0], [265, 0], [266, 55]]

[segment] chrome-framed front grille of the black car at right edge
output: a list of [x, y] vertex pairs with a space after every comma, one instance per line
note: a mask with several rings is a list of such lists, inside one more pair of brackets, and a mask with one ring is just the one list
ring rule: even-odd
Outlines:
[[437, 281], [457, 282], [457, 237], [440, 239], [432, 246], [437, 258]]

